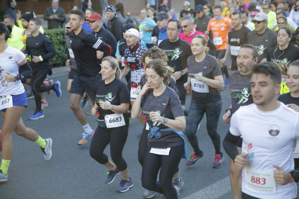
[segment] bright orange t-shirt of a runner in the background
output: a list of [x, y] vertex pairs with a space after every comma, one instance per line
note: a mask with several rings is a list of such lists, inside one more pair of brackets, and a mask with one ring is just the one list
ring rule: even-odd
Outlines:
[[231, 20], [222, 18], [216, 21], [215, 18], [210, 19], [207, 30], [211, 31], [213, 43], [217, 50], [224, 50], [227, 46], [228, 31], [233, 28]]

